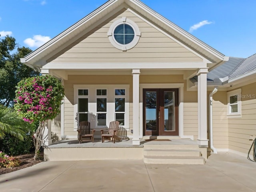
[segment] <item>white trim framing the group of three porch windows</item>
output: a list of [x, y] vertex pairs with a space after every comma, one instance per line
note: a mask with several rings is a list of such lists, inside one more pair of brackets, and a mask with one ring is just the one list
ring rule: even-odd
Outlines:
[[[107, 98], [107, 120], [106, 120], [106, 124], [107, 126], [109, 125], [109, 123], [111, 121], [114, 121], [115, 117], [115, 102], [114, 99], [116, 98], [115, 95], [115, 89], [124, 89], [126, 91], [126, 100], [125, 100], [125, 126], [124, 128], [129, 131], [130, 130], [130, 122], [129, 122], [129, 94], [130, 94], [130, 85], [129, 84], [106, 84], [106, 85], [102, 85], [102, 84], [82, 84], [82, 85], [78, 85], [78, 84], [74, 84], [74, 131], [77, 130], [78, 128], [78, 122], [76, 119], [77, 116], [77, 112], [78, 112], [78, 89], [88, 89], [88, 93], [89, 94], [89, 100], [88, 100], [88, 121], [90, 121], [91, 123], [91, 128], [96, 128], [97, 129], [102, 129], [102, 127], [106, 127], [106, 126], [96, 126], [96, 120], [94, 120], [93, 118], [90, 118], [91, 115], [96, 116], [97, 114], [97, 104], [96, 104], [96, 99], [99, 98], [97, 96], [97, 89], [107, 89], [107, 96], [104, 96], [104, 98]], [[102, 96], [100, 96], [102, 97]]]

